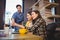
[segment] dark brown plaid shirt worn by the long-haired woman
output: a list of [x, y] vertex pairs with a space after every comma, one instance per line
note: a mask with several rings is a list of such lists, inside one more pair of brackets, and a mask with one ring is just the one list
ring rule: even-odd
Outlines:
[[44, 35], [46, 32], [46, 23], [42, 18], [38, 18], [29, 30], [35, 35]]

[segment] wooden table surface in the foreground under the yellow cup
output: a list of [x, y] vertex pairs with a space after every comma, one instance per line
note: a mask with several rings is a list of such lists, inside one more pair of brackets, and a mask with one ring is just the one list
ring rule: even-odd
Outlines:
[[20, 35], [20, 34], [11, 34], [6, 37], [0, 37], [0, 40], [42, 40], [42, 37], [36, 36], [33, 34], [25, 34], [25, 35]]

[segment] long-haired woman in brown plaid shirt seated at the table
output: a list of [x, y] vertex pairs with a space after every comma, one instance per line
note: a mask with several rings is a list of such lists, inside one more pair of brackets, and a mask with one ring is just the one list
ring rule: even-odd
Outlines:
[[38, 10], [33, 10], [32, 13], [32, 18], [33, 18], [33, 25], [29, 29], [33, 34], [39, 35], [41, 37], [45, 37], [45, 31], [46, 31], [46, 23], [42, 19], [40, 12]]

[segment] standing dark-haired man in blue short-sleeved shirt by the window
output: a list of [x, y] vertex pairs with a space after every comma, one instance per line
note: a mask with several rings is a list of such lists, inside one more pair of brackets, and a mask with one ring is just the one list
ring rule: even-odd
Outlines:
[[24, 28], [22, 26], [22, 21], [24, 20], [24, 14], [21, 12], [21, 5], [16, 5], [17, 12], [12, 16], [12, 26], [15, 28], [15, 31], [18, 31], [19, 28]]

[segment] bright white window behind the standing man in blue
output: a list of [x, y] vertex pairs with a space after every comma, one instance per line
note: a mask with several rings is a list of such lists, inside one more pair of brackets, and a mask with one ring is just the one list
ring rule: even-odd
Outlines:
[[17, 4], [20, 4], [22, 6], [22, 0], [6, 0], [5, 24], [9, 24], [13, 13], [17, 11]]

